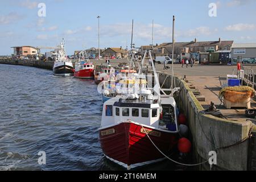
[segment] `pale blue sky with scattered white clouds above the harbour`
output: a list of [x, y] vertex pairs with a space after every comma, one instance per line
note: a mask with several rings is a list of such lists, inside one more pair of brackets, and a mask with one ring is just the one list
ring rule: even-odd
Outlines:
[[[46, 6], [46, 16], [40, 3]], [[216, 5], [209, 6], [211, 3]], [[57, 46], [65, 39], [68, 55], [98, 47], [130, 47], [134, 19], [135, 47], [152, 42], [234, 40], [256, 42], [256, 0], [1, 0], [0, 55], [11, 55], [13, 46]], [[210, 15], [209, 15], [210, 11]], [[214, 16], [212, 16], [214, 15]]]

